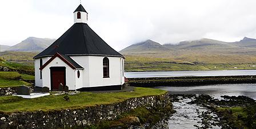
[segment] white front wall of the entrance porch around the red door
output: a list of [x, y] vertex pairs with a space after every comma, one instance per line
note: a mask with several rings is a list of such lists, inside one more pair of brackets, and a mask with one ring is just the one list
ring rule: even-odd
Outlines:
[[42, 70], [42, 85], [47, 86], [51, 90], [51, 66], [65, 66], [66, 67], [66, 85], [70, 90], [75, 90], [74, 83], [74, 69], [70, 68], [64, 61], [56, 57]]

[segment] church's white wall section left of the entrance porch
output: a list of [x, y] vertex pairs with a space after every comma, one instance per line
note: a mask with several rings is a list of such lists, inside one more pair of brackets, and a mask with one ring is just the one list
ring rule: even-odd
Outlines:
[[[42, 61], [45, 64], [51, 57], [43, 57]], [[42, 79], [40, 79], [40, 59], [34, 60], [34, 68], [35, 68], [35, 86], [42, 87]]]

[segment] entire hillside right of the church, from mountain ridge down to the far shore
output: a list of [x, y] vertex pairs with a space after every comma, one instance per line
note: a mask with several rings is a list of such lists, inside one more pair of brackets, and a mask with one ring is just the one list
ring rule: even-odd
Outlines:
[[[143, 44], [143, 45], [142, 45]], [[213, 39], [158, 44], [147, 41], [120, 51], [127, 71], [256, 69], [256, 39], [234, 43]]]

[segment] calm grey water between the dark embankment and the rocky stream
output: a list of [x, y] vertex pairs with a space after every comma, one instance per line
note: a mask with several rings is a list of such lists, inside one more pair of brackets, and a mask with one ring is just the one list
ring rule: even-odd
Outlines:
[[247, 97], [256, 99], [256, 84], [219, 84], [179, 87], [159, 86], [157, 88], [167, 90], [170, 94], [208, 94], [214, 98], [221, 98], [221, 95], [245, 95]]

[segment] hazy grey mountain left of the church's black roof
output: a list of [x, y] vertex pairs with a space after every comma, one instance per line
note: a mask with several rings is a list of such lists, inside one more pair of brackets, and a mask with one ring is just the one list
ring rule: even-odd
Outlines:
[[10, 47], [9, 49], [7, 49], [7, 51], [41, 52], [45, 48], [49, 47], [49, 45], [52, 44], [54, 41], [55, 39], [29, 37], [23, 40], [21, 43]]

